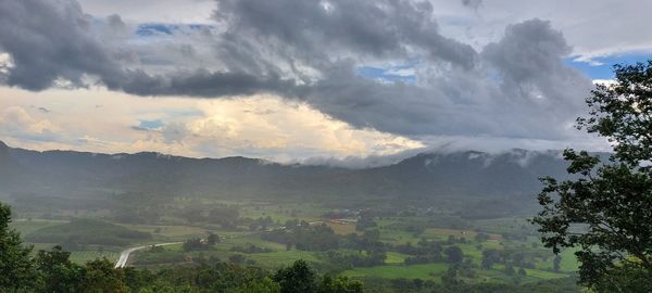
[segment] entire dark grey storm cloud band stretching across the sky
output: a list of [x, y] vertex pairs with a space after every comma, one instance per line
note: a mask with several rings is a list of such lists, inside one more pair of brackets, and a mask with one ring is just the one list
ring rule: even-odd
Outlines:
[[[180, 71], [168, 60], [173, 71], [152, 74], [109, 58], [116, 52], [89, 33], [76, 2], [4, 0], [0, 48], [15, 63], [8, 84], [32, 90], [89, 74], [139, 95], [271, 92], [354, 127], [413, 137], [568, 137], [591, 84], [563, 65], [570, 49], [561, 33], [527, 21], [478, 53], [439, 34], [434, 9], [426, 1], [218, 0], [221, 31], [202, 36], [221, 66]], [[378, 82], [358, 72], [368, 63], [414, 64], [416, 81]]]

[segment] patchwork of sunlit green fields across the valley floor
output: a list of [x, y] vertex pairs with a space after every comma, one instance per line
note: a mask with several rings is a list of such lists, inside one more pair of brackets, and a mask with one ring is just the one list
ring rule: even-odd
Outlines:
[[[378, 241], [385, 246], [385, 258], [380, 264], [373, 266], [351, 266], [342, 263], [331, 263], [327, 255], [339, 253], [342, 255], [358, 255], [364, 257], [368, 252], [355, 249], [335, 249], [310, 251], [292, 247], [288, 250], [284, 243], [265, 240], [264, 235], [269, 229], [280, 229], [287, 220], [303, 220], [319, 226], [322, 222], [331, 229], [334, 237], [344, 243], [349, 235], [358, 238], [365, 235], [364, 230], [356, 228], [355, 222], [335, 222], [323, 216], [330, 209], [315, 204], [269, 204], [248, 202], [225, 202], [211, 200], [175, 200], [183, 206], [208, 205], [235, 208], [238, 217], [247, 219], [240, 226], [222, 227], [216, 222], [199, 221], [185, 222], [179, 217], [166, 216], [161, 224], [116, 224], [110, 220], [72, 219], [61, 220], [18, 220], [12, 227], [26, 235], [27, 241], [35, 244], [37, 250], [49, 249], [52, 243], [63, 243], [71, 239], [83, 239], [82, 243], [70, 249], [72, 260], [84, 263], [95, 258], [105, 257], [115, 262], [120, 252], [126, 247], [148, 243], [164, 243], [186, 241], [189, 239], [205, 238], [212, 232], [221, 238], [221, 242], [200, 251], [185, 251], [183, 245], [168, 245], [163, 249], [145, 249], [131, 255], [130, 264], [136, 267], [160, 268], [175, 264], [192, 264], [195, 262], [240, 262], [246, 266], [256, 266], [265, 269], [277, 269], [304, 259], [315, 268], [323, 271], [335, 271], [351, 278], [383, 278], [383, 279], [422, 279], [436, 283], [441, 278], [450, 264], [446, 260], [443, 250], [456, 246], [462, 251], [467, 266], [468, 276], [459, 276], [466, 282], [481, 283], [512, 283], [536, 282], [549, 279], [567, 277], [577, 269], [577, 262], [573, 250], [562, 253], [561, 272], [552, 272], [554, 255], [538, 243], [536, 234], [531, 233], [524, 218], [498, 218], [482, 220], [467, 220], [455, 218], [448, 214], [424, 215], [409, 214], [391, 217], [374, 217]], [[205, 214], [208, 215], [208, 214]], [[355, 215], [344, 216], [355, 218]], [[251, 227], [251, 222], [266, 219], [266, 228]], [[271, 219], [271, 221], [268, 220]], [[442, 222], [438, 220], [442, 219]], [[297, 222], [298, 222], [297, 221]], [[178, 222], [178, 224], [172, 224]], [[292, 224], [293, 225], [293, 224]], [[450, 225], [450, 227], [448, 227]], [[465, 227], [465, 228], [456, 228]], [[293, 229], [289, 227], [289, 229]], [[482, 233], [479, 239], [478, 234]], [[524, 235], [514, 238], [514, 235]], [[318, 240], [318, 239], [317, 239]], [[411, 258], [419, 256], [418, 253], [410, 254], [398, 251], [399, 246], [412, 245], [419, 247], [423, 243], [439, 243], [441, 257], [425, 260], [426, 263], [409, 263]], [[251, 247], [255, 251], [248, 251]], [[505, 271], [505, 262], [493, 265], [491, 269], [480, 268], [482, 255], [487, 250], [519, 253], [519, 262], [514, 264], [514, 270], [524, 270], [525, 276], [514, 276]], [[199, 260], [203, 259], [203, 260]], [[419, 260], [424, 262], [424, 260]], [[512, 260], [509, 260], [512, 262]], [[527, 264], [527, 267], [526, 267]], [[522, 269], [524, 268], [524, 269]], [[459, 272], [462, 273], [462, 272]]]

